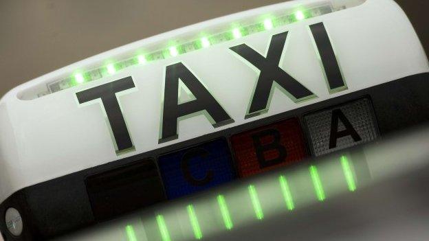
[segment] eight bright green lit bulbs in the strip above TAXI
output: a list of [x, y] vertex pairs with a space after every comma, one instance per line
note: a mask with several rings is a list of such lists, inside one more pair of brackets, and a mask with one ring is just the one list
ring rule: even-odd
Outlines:
[[[294, 16], [295, 16], [295, 19], [297, 21], [301, 21], [301, 20], [305, 19], [304, 12], [300, 11], [300, 10], [295, 12]], [[265, 19], [263, 21], [263, 26], [264, 26], [265, 30], [271, 30], [274, 27], [272, 19]], [[234, 39], [241, 38], [243, 36], [239, 27], [236, 27], [232, 30], [232, 36], [234, 37]], [[211, 43], [207, 37], [202, 37], [200, 39], [200, 43], [201, 43], [201, 46], [203, 48], [210, 47], [210, 45], [211, 45]], [[177, 49], [176, 46], [171, 46], [168, 48], [168, 53], [170, 54], [170, 56], [175, 57], [175, 56], [179, 55], [179, 50]], [[144, 65], [146, 62], [148, 62], [148, 60], [146, 59], [146, 57], [143, 54], [137, 55], [136, 59], [137, 59], [138, 64], [140, 64], [140, 65]], [[117, 69], [115, 68], [115, 65], [113, 63], [106, 65], [106, 70], [107, 70], [107, 73], [109, 73], [110, 75], [116, 73], [116, 71], [117, 71]], [[74, 80], [76, 81], [77, 84], [83, 84], [86, 81], [83, 73], [74, 74]]]

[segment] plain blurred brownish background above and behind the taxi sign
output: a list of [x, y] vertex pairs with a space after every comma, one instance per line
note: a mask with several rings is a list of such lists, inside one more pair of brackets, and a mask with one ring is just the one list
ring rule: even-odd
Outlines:
[[[0, 0], [0, 96], [23, 82], [102, 51], [283, 1]], [[429, 52], [429, 1], [397, 2]]]

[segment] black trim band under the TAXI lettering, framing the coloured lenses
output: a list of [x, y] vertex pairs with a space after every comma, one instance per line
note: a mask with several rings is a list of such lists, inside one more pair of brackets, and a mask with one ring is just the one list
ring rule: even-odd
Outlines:
[[[219, 137], [229, 140], [231, 135], [244, 130], [265, 126], [282, 119], [298, 117], [306, 136], [303, 115], [329, 106], [335, 106], [360, 97], [371, 97], [380, 135], [404, 130], [428, 122], [429, 120], [429, 73], [408, 76], [375, 87], [355, 91], [340, 97], [311, 104], [292, 111], [259, 119], [248, 124], [235, 126], [216, 133], [203, 135], [178, 144], [151, 150], [133, 157], [127, 157], [94, 168], [89, 168], [25, 187], [12, 194], [0, 205], [0, 229], [7, 240], [45, 240], [80, 227], [96, 223], [91, 210], [85, 179], [88, 176], [119, 168], [135, 161], [153, 158], [160, 154], [195, 146], [201, 142]], [[307, 141], [307, 139], [306, 139]], [[308, 141], [307, 141], [308, 143]], [[230, 145], [230, 144], [229, 144]], [[233, 152], [232, 152], [233, 153]], [[14, 238], [5, 227], [4, 214], [8, 207], [15, 207], [23, 218], [23, 234]]]

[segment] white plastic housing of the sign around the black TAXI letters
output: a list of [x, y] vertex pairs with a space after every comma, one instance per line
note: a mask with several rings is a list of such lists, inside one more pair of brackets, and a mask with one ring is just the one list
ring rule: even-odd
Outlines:
[[[210, 30], [210, 27], [232, 24], [239, 19], [257, 18], [318, 2], [289, 1], [191, 25], [107, 51], [12, 89], [0, 102], [0, 202], [29, 185], [429, 71], [419, 38], [401, 8], [392, 0], [367, 0], [346, 10], [275, 27], [147, 65], [129, 67], [100, 80], [34, 100], [20, 99], [24, 93], [44, 87], [53, 78], [131, 53], [146, 45], [167, 43], [188, 32]], [[346, 91], [330, 94], [327, 89], [308, 29], [309, 25], [320, 22], [325, 24], [336, 51], [347, 82]], [[245, 119], [259, 73], [232, 54], [229, 47], [245, 43], [265, 56], [270, 37], [285, 31], [289, 31], [289, 35], [281, 68], [318, 97], [296, 104], [276, 89], [267, 113]], [[184, 62], [195, 73], [234, 123], [214, 128], [206, 117], [198, 115], [179, 122], [178, 139], [158, 144], [165, 67], [176, 62]], [[80, 105], [76, 92], [127, 76], [132, 76], [136, 87], [118, 94], [118, 100], [135, 151], [118, 155], [102, 105]]]

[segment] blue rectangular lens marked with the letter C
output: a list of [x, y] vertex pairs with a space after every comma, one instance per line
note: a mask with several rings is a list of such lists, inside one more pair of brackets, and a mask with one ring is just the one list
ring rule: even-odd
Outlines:
[[158, 165], [169, 199], [227, 183], [235, 176], [225, 139], [165, 154]]

